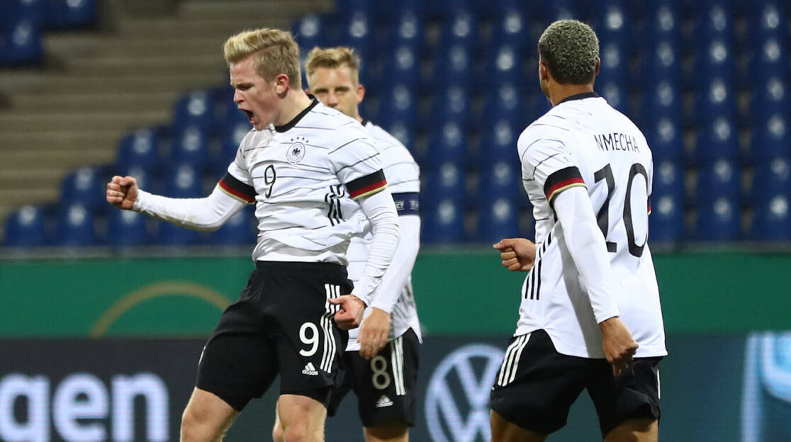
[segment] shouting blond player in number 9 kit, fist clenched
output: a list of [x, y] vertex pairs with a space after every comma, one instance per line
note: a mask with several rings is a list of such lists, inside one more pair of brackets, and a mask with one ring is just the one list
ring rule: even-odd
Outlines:
[[[357, 327], [371, 303], [399, 243], [398, 215], [368, 131], [302, 90], [290, 33], [242, 32], [224, 52], [233, 100], [254, 129], [211, 195], [165, 198], [138, 189], [133, 177], [115, 176], [107, 200], [199, 230], [217, 229], [255, 204], [256, 268], [203, 349], [181, 440], [221, 440], [279, 375], [286, 440], [320, 442], [346, 342], [339, 327]], [[365, 223], [371, 244], [353, 286], [346, 249]], [[379, 339], [360, 334], [366, 348], [378, 348]]]

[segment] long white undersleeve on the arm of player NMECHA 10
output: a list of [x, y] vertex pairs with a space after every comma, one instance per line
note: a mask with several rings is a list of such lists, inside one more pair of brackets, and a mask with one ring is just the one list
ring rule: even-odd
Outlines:
[[563, 229], [566, 247], [588, 289], [596, 323], [619, 315], [607, 246], [596, 224], [588, 191], [584, 187], [570, 187], [559, 192], [554, 198], [554, 213]]

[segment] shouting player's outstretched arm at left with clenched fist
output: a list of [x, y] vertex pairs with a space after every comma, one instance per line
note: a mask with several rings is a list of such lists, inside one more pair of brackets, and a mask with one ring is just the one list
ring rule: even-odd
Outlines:
[[240, 184], [228, 174], [205, 198], [168, 198], [142, 191], [134, 177], [114, 176], [107, 185], [107, 201], [119, 209], [146, 213], [187, 229], [210, 232], [255, 201], [252, 196], [255, 194], [249, 195], [249, 191], [247, 195], [239, 193], [237, 196], [226, 190], [231, 186], [241, 189]]

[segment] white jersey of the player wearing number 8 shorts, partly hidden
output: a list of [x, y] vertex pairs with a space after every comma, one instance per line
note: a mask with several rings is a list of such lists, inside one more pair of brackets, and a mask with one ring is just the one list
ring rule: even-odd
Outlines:
[[[418, 207], [416, 198], [401, 198], [399, 195], [418, 194], [420, 191], [420, 168], [418, 163], [412, 158], [406, 147], [387, 131], [377, 125], [364, 121], [363, 125], [369, 134], [376, 141], [377, 149], [380, 153], [384, 176], [388, 180], [388, 189], [395, 199], [395, 208], [399, 215], [417, 215]], [[368, 246], [373, 235], [367, 229], [365, 236], [354, 236], [349, 244], [349, 279], [357, 284], [362, 277], [362, 270], [365, 267], [365, 259], [368, 258]], [[367, 314], [368, 312], [366, 312]], [[412, 292], [412, 280], [407, 279], [407, 284], [401, 290], [401, 296], [395, 303], [390, 314], [390, 333], [388, 341], [392, 341], [404, 334], [410, 328], [418, 335], [420, 334], [420, 322], [418, 320], [418, 308], [414, 302]], [[358, 351], [360, 343], [357, 342], [359, 328], [349, 331], [349, 344], [346, 351]]]

